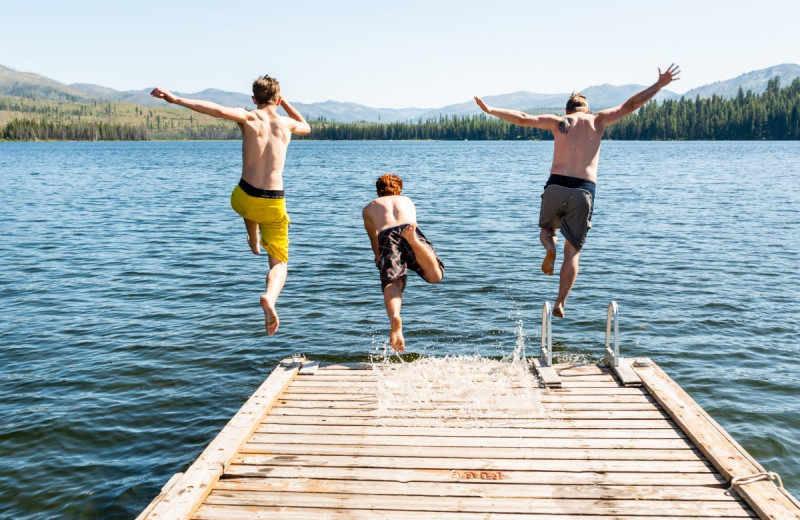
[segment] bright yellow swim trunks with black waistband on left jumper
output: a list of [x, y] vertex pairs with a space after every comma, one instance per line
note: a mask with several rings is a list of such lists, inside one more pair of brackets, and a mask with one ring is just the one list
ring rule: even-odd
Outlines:
[[242, 218], [258, 222], [267, 254], [289, 261], [289, 214], [283, 191], [261, 190], [242, 180], [231, 193], [231, 207]]

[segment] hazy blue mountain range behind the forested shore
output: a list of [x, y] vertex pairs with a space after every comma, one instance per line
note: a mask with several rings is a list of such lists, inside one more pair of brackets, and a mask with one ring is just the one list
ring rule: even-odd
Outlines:
[[[800, 65], [784, 63], [766, 69], [747, 72], [735, 78], [717, 81], [708, 85], [694, 88], [684, 94], [676, 94], [669, 90], [661, 90], [656, 96], [657, 101], [665, 99], [679, 99], [681, 97], [694, 98], [711, 97], [716, 94], [725, 98], [735, 97], [739, 88], [752, 90], [760, 94], [766, 89], [767, 82], [779, 77], [781, 85], [789, 85], [794, 78], [800, 77]], [[582, 90], [589, 99], [593, 110], [599, 110], [619, 105], [631, 95], [639, 92], [645, 85], [596, 85]], [[19, 96], [33, 99], [51, 99], [73, 102], [113, 101], [120, 103], [133, 103], [140, 106], [162, 105], [163, 101], [150, 96], [150, 89], [119, 91], [100, 85], [87, 83], [73, 83], [66, 85], [55, 80], [30, 72], [17, 72], [0, 65], [0, 94]], [[240, 92], [227, 92], [209, 88], [200, 92], [175, 94], [214, 101], [226, 106], [253, 106], [250, 94]], [[483, 99], [489, 105], [515, 108], [529, 112], [543, 112], [561, 110], [569, 93], [537, 94], [534, 92], [513, 92], [496, 96], [485, 96]], [[373, 108], [353, 102], [323, 101], [319, 103], [292, 103], [307, 119], [325, 118], [329, 121], [339, 122], [377, 122], [425, 120], [440, 115], [471, 115], [480, 112], [473, 100], [463, 103], [447, 105], [440, 108]]]

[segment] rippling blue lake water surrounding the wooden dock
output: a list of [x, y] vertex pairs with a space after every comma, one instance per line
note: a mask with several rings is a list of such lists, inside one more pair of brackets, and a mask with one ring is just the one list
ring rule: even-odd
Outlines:
[[[398, 173], [445, 278], [409, 278], [408, 351], [533, 355], [550, 142], [295, 142], [279, 333], [229, 207], [239, 142], [0, 143], [0, 517], [133, 518], [278, 361], [388, 339], [361, 222]], [[556, 361], [598, 361], [609, 301], [648, 356], [800, 496], [800, 143], [605, 142]], [[563, 238], [560, 238], [560, 244]]]

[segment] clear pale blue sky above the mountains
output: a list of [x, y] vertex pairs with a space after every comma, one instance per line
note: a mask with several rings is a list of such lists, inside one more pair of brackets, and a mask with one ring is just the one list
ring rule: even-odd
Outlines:
[[797, 0], [6, 2], [0, 65], [117, 90], [249, 92], [440, 107], [473, 95], [651, 84], [683, 93], [800, 63]]

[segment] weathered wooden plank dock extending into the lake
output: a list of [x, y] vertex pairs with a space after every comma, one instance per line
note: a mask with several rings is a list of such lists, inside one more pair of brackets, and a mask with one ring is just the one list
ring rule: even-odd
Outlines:
[[382, 407], [391, 366], [284, 360], [139, 519], [800, 519], [655, 363], [632, 366], [641, 387], [555, 365], [542, 413], [512, 387], [465, 420], [472, 403], [447, 393]]

